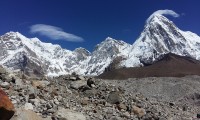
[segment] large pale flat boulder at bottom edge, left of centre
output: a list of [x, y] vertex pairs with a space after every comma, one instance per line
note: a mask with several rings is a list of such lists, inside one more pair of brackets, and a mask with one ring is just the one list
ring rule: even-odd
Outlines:
[[82, 113], [75, 112], [69, 109], [60, 108], [55, 116], [60, 120], [86, 120], [86, 116]]

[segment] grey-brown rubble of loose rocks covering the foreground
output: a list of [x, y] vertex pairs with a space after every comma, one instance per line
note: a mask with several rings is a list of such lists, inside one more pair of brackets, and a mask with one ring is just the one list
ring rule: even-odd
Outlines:
[[191, 120], [200, 112], [198, 76], [101, 80], [74, 74], [21, 79], [0, 69], [0, 86], [12, 102], [0, 102], [0, 114], [14, 112], [11, 120]]

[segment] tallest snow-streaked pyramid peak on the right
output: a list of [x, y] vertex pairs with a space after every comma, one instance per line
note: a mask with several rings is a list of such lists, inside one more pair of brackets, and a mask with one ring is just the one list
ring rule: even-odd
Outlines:
[[168, 53], [199, 60], [200, 37], [192, 32], [180, 30], [163, 15], [153, 14], [133, 44], [129, 58], [122, 62], [122, 65], [134, 67], [134, 62], [152, 64]]

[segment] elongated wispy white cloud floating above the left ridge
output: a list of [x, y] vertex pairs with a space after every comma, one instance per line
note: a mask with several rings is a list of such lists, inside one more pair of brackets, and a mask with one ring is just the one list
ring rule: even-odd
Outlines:
[[49, 37], [52, 40], [65, 40], [70, 42], [82, 42], [83, 38], [64, 32], [61, 28], [45, 25], [45, 24], [36, 24], [30, 27], [31, 33], [38, 33], [40, 35]]

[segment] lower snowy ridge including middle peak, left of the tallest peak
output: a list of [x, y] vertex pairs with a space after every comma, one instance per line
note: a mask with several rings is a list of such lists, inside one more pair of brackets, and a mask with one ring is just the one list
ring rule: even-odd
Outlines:
[[0, 64], [27, 74], [58, 76], [76, 72], [82, 75], [97, 75], [117, 56], [126, 56], [131, 45], [107, 38], [98, 44], [94, 52], [84, 48], [74, 51], [59, 45], [43, 43], [37, 38], [26, 38], [18, 32], [9, 32], [0, 37]]

